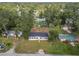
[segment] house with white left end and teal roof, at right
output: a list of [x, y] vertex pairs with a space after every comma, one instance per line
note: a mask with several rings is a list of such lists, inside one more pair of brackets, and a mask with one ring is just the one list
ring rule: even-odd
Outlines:
[[76, 36], [72, 34], [59, 34], [60, 41], [75, 42]]

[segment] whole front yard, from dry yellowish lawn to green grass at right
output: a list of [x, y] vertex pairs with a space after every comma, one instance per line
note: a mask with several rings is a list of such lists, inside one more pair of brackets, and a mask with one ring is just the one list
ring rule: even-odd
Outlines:
[[79, 55], [79, 44], [72, 47], [69, 44], [61, 42], [48, 42], [48, 41], [28, 41], [22, 40], [17, 45], [16, 53], [36, 53], [39, 49], [43, 49], [46, 54], [59, 54], [59, 55]]

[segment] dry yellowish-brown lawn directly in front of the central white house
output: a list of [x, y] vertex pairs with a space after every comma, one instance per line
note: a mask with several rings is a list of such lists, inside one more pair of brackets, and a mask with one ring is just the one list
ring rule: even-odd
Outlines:
[[28, 41], [23, 40], [15, 49], [17, 53], [36, 53], [39, 49], [46, 52], [50, 44], [47, 41]]

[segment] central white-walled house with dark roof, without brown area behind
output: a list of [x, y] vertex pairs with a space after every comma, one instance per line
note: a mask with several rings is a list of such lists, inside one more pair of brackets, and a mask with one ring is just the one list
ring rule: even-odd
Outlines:
[[48, 40], [47, 32], [30, 32], [29, 40]]

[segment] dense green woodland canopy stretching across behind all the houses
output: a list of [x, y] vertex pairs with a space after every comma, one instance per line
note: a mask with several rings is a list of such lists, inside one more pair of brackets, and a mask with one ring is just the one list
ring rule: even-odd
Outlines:
[[35, 16], [45, 18], [48, 28], [58, 28], [58, 33], [64, 24], [79, 33], [79, 3], [0, 3], [0, 32], [15, 30], [28, 35]]

